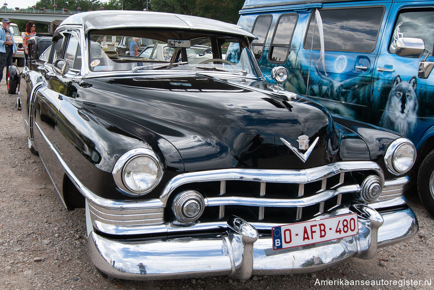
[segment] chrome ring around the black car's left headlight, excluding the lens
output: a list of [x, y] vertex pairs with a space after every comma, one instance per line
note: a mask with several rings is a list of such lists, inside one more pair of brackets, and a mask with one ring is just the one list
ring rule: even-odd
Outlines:
[[[158, 167], [156, 182], [152, 186], [148, 187], [147, 189], [143, 189], [140, 191], [130, 188], [126, 184], [124, 178], [126, 165], [128, 165], [132, 160], [135, 160], [138, 157], [150, 158], [155, 162], [155, 165]], [[112, 175], [116, 185], [118, 186], [118, 188], [121, 190], [123, 194], [128, 196], [143, 196], [148, 192], [151, 192], [153, 189], [155, 189], [156, 186], [158, 186], [158, 184], [161, 181], [161, 178], [163, 177], [163, 167], [161, 166], [160, 158], [154, 151], [146, 148], [136, 148], [127, 151], [118, 159], [118, 161], [116, 161], [115, 167], [113, 168], [112, 171]]]

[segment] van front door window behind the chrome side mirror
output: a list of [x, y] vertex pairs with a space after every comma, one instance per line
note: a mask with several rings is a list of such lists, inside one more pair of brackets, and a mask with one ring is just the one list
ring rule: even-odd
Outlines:
[[430, 55], [434, 55], [433, 19], [434, 9], [432, 8], [401, 10], [393, 28], [393, 34], [389, 44], [389, 52], [395, 53], [395, 45], [398, 38], [414, 37], [423, 39], [425, 42], [425, 48], [428, 49]]

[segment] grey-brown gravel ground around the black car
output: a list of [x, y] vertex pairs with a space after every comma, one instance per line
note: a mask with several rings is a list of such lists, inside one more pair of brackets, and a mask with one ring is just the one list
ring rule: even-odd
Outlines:
[[[434, 221], [417, 194], [408, 194], [420, 231], [378, 250], [371, 260], [350, 259], [327, 270], [286, 276], [165, 281], [106, 280], [86, 252], [84, 209], [68, 212], [39, 159], [27, 149], [17, 95], [0, 84], [0, 289], [430, 289], [434, 285]], [[365, 281], [380, 283], [366, 286]], [[324, 281], [335, 283], [324, 285]], [[396, 281], [397, 285], [393, 285]], [[421, 285], [419, 285], [421, 281]], [[351, 283], [365, 283], [353, 286]], [[350, 285], [346, 285], [348, 283]], [[382, 283], [382, 285], [381, 285]], [[400, 284], [404, 283], [402, 287]], [[330, 284], [329, 284], [330, 285]]]

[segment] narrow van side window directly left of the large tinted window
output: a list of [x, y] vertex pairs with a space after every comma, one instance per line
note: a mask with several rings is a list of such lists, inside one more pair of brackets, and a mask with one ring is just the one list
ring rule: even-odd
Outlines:
[[280, 16], [274, 30], [273, 39], [271, 40], [269, 54], [271, 62], [285, 63], [286, 59], [288, 59], [289, 46], [291, 45], [297, 19], [297, 14], [284, 14]]

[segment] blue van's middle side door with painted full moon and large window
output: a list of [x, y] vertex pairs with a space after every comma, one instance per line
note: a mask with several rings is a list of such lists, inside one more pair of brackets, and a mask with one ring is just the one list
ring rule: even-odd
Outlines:
[[[306, 93], [333, 114], [366, 120], [371, 94], [371, 77], [379, 50], [379, 39], [391, 7], [351, 3], [336, 7], [327, 3], [319, 9], [324, 32], [324, 62], [320, 33], [313, 10], [296, 67], [306, 83]], [[321, 60], [320, 60], [321, 59]], [[325, 65], [325, 67], [324, 67]]]

